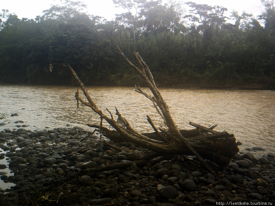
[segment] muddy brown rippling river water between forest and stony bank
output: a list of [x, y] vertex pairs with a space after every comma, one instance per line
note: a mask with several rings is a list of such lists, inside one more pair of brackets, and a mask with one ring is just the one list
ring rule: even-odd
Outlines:
[[[150, 115], [157, 126], [162, 121], [152, 103], [129, 87], [88, 87], [98, 107], [115, 115], [115, 107], [140, 132], [152, 131], [146, 120]], [[4, 128], [16, 128], [14, 121], [30, 125], [26, 129], [43, 129], [99, 124], [99, 118], [89, 107], [76, 108], [76, 88], [68, 86], [0, 86], [0, 113], [7, 116]], [[148, 89], [145, 91], [149, 92]], [[273, 152], [275, 142], [275, 91], [160, 89], [169, 105], [172, 117], [180, 129], [189, 129], [189, 121], [201, 125], [218, 124], [217, 130], [233, 133], [243, 145], [240, 149], [262, 146]], [[84, 98], [84, 96], [83, 96]], [[107, 124], [106, 124], [107, 125]], [[17, 129], [17, 128], [16, 128]]]

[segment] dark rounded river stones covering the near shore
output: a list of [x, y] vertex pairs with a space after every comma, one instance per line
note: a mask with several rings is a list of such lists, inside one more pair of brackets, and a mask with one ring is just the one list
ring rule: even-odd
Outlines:
[[[236, 154], [225, 168], [195, 157], [142, 161], [149, 150], [132, 143], [103, 145], [79, 128], [0, 130], [0, 178], [5, 205], [216, 205], [216, 201], [274, 201], [274, 154]], [[89, 136], [90, 135], [90, 136]], [[260, 149], [260, 148], [254, 148]], [[122, 163], [122, 164], [118, 164]], [[9, 167], [11, 174], [1, 173]]]

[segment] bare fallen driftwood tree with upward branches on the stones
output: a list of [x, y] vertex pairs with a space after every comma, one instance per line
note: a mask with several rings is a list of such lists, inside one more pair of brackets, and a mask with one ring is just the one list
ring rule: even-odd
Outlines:
[[[61, 66], [68, 68], [73, 74], [77, 85], [82, 90], [86, 100], [83, 100], [79, 96], [79, 92], [75, 93], [75, 98], [82, 104], [90, 107], [95, 113], [97, 113], [101, 118], [100, 125], [87, 124], [90, 127], [97, 128], [101, 134], [116, 142], [132, 142], [136, 145], [143, 146], [149, 150], [152, 150], [159, 154], [159, 156], [169, 155], [169, 154], [179, 154], [179, 155], [195, 155], [204, 166], [210, 170], [212, 169], [204, 161], [204, 159], [209, 159], [218, 164], [227, 164], [238, 151], [236, 139], [232, 134], [227, 132], [217, 132], [212, 128], [203, 127], [195, 123], [190, 122], [191, 125], [196, 127], [194, 130], [183, 130], [180, 131], [175, 124], [173, 118], [171, 117], [169, 108], [161, 96], [159, 90], [157, 89], [156, 83], [149, 70], [148, 65], [143, 61], [141, 56], [134, 52], [139, 67], [134, 65], [130, 60], [123, 54], [123, 52], [118, 48], [119, 54], [133, 67], [145, 80], [149, 89], [152, 92], [152, 96], [144, 92], [139, 86], [136, 86], [135, 91], [143, 94], [150, 101], [152, 101], [157, 112], [162, 117], [166, 129], [156, 128], [151, 118], [147, 115], [147, 120], [155, 130], [151, 134], [140, 134], [134, 128], [131, 127], [129, 122], [120, 114], [118, 108], [116, 108], [117, 119], [108, 110], [108, 115], [102, 112], [102, 110], [97, 107], [96, 103], [91, 98], [90, 94], [85, 89], [83, 83], [79, 80], [75, 71], [71, 68], [69, 64], [50, 64], [50, 70], [53, 66]], [[109, 125], [115, 130], [108, 129], [102, 126], [102, 121], [105, 120]], [[160, 131], [159, 131], [160, 130]], [[192, 135], [191, 135], [192, 133]]]

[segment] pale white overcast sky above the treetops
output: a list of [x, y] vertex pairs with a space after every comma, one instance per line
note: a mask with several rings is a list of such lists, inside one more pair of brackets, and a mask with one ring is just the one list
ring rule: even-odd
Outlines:
[[[179, 0], [176, 0], [179, 1]], [[184, 0], [189, 2], [192, 0]], [[112, 0], [82, 0], [87, 5], [87, 11], [91, 15], [102, 16], [107, 20], [112, 20], [115, 14], [123, 13], [123, 9], [116, 8]], [[165, 0], [163, 0], [165, 2]], [[226, 7], [229, 12], [233, 9], [241, 14], [243, 11], [252, 13], [255, 16], [263, 11], [260, 0], [193, 0], [197, 4], [208, 4], [211, 6], [219, 5]], [[0, 0], [0, 12], [2, 9], [8, 9], [10, 13], [15, 13], [18, 18], [34, 19], [41, 15], [43, 10], [49, 9], [51, 5], [59, 4], [59, 0]]]

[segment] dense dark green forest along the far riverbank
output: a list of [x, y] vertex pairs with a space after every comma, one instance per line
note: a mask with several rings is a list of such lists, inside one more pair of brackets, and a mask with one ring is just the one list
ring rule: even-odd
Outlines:
[[50, 63], [69, 63], [86, 85], [142, 85], [117, 53], [118, 45], [130, 60], [139, 52], [159, 86], [274, 89], [274, 0], [259, 1], [265, 9], [253, 16], [194, 2], [113, 0], [127, 12], [112, 21], [83, 12], [86, 5], [69, 0], [35, 19], [19, 19], [3, 9], [0, 82], [72, 84], [69, 71], [48, 69]]

